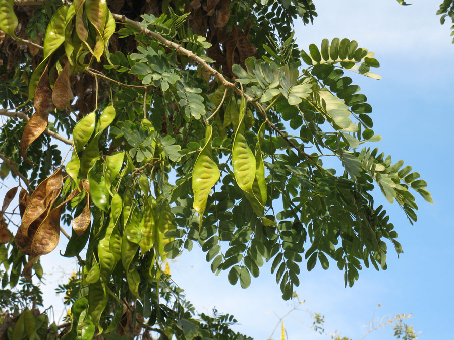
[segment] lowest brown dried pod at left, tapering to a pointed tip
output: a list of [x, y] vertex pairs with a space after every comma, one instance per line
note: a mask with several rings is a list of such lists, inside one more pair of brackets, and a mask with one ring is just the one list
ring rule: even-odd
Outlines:
[[47, 214], [36, 230], [31, 243], [30, 258], [22, 272], [26, 279], [31, 280], [31, 269], [38, 257], [50, 253], [59, 244], [61, 215], [62, 206], [60, 205]]

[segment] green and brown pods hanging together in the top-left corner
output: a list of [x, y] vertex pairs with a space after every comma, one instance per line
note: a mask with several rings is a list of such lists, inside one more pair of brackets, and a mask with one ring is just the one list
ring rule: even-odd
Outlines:
[[[0, 0], [0, 29], [15, 37], [18, 20], [13, 3]], [[30, 162], [27, 149], [46, 129], [49, 113], [55, 108], [65, 109], [74, 99], [71, 74], [83, 72], [93, 57], [99, 62], [105, 53], [108, 58], [108, 41], [114, 31], [115, 20], [105, 0], [75, 0], [54, 13], [44, 37], [44, 58], [29, 80], [28, 100], [33, 99], [36, 112], [21, 139], [21, 154], [26, 161]]]

